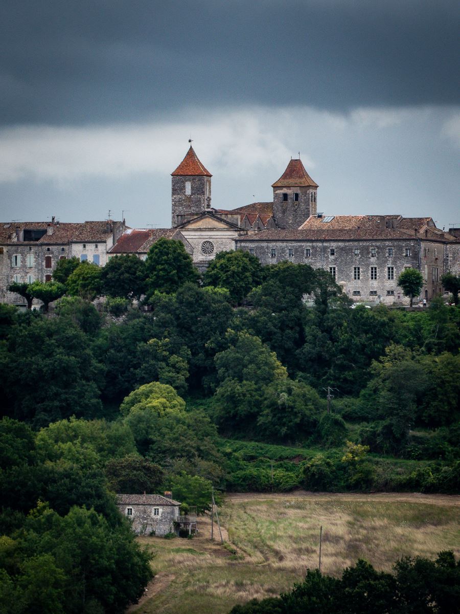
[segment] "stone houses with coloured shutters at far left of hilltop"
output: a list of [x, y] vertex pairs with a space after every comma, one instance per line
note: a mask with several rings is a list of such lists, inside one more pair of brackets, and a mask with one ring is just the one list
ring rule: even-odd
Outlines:
[[13, 282], [51, 281], [56, 263], [76, 256], [99, 266], [107, 262], [107, 251], [125, 230], [125, 222], [0, 223], [0, 301], [25, 305], [25, 300], [8, 292]]

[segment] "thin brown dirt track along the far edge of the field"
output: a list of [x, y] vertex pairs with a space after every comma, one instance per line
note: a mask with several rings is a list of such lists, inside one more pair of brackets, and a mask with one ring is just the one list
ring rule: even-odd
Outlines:
[[421, 492], [374, 492], [369, 494], [354, 492], [229, 492], [229, 501], [254, 501], [269, 499], [343, 499], [350, 501], [402, 501], [408, 503], [431, 503], [431, 505], [460, 506], [460, 495], [435, 495]]

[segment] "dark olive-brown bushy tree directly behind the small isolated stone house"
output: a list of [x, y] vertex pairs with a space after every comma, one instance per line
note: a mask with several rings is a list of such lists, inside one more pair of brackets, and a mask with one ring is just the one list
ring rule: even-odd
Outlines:
[[112, 491], [129, 494], [156, 492], [163, 481], [163, 469], [137, 454], [110, 459], [105, 475]]

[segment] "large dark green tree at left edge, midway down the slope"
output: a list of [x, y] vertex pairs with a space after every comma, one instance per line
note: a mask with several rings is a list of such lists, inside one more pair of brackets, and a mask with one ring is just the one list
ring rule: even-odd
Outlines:
[[2, 373], [7, 411], [35, 426], [102, 410], [104, 367], [94, 359], [88, 337], [70, 321], [39, 318], [15, 327]]

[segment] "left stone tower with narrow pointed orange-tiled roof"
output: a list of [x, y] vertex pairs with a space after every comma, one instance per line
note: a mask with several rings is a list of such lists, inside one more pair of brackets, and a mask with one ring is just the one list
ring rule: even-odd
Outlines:
[[199, 216], [205, 209], [211, 208], [212, 174], [204, 168], [190, 146], [171, 177], [171, 223], [175, 228], [185, 221], [185, 216]]

